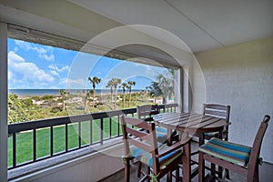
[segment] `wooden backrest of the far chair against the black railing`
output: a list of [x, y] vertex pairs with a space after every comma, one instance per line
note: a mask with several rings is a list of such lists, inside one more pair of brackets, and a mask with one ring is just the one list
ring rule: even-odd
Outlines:
[[145, 121], [153, 121], [153, 116], [159, 114], [157, 105], [136, 106], [137, 117]]

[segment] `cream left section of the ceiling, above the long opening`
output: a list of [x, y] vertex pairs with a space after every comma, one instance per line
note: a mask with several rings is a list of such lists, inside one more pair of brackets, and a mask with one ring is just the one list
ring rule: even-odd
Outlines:
[[83, 42], [122, 25], [66, 0], [0, 0], [0, 21]]

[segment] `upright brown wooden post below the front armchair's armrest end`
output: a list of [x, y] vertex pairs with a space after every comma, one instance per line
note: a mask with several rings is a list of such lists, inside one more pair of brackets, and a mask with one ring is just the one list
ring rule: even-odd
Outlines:
[[190, 174], [191, 174], [191, 170], [190, 170], [190, 142], [188, 142], [185, 146], [184, 146], [184, 153], [185, 155], [183, 155], [182, 157], [182, 162], [183, 162], [183, 182], [188, 182], [190, 181]]

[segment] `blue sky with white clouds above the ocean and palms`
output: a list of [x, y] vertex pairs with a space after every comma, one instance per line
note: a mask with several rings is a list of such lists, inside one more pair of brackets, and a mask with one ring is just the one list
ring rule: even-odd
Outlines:
[[[72, 66], [82, 55], [86, 56], [92, 66], [83, 62], [77, 72], [78, 76], [69, 75], [73, 70]], [[84, 69], [87, 69], [88, 75], [81, 76], [81, 70]], [[105, 88], [108, 80], [119, 77], [123, 82], [136, 81], [133, 89], [145, 89], [152, 81], [157, 80], [158, 74], [166, 72], [167, 69], [162, 67], [8, 39], [9, 89], [66, 89], [67, 82], [76, 83], [74, 88], [90, 88], [88, 76], [101, 78], [101, 83], [96, 88]]]

